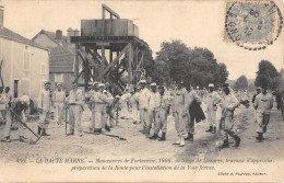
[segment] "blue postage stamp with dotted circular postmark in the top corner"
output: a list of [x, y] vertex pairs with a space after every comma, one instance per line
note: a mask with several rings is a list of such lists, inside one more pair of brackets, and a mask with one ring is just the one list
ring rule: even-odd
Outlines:
[[227, 2], [225, 39], [249, 50], [265, 49], [280, 36], [283, 18], [273, 1]]

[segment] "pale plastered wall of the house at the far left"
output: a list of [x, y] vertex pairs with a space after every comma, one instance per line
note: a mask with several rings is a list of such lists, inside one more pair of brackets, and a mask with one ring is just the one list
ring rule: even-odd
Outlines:
[[36, 101], [44, 81], [49, 78], [48, 52], [26, 44], [0, 37], [2, 78], [14, 95], [17, 81], [17, 96], [28, 94]]

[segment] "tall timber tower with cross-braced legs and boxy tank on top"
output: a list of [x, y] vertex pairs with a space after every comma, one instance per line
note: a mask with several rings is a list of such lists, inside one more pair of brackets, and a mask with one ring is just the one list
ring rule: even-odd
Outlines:
[[141, 80], [147, 44], [139, 38], [138, 26], [131, 20], [120, 19], [105, 4], [102, 8], [102, 20], [81, 20], [81, 36], [71, 37], [75, 44], [75, 81], [83, 78], [79, 84], [85, 89], [90, 81], [107, 81], [121, 92]]

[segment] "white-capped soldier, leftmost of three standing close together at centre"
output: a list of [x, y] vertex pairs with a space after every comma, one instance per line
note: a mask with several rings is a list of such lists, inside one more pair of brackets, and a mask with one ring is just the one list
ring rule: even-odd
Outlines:
[[146, 81], [140, 81], [140, 94], [139, 94], [139, 111], [140, 111], [140, 123], [143, 124], [143, 134], [146, 134], [146, 126], [147, 126], [147, 107], [149, 107], [149, 89], [146, 88]]

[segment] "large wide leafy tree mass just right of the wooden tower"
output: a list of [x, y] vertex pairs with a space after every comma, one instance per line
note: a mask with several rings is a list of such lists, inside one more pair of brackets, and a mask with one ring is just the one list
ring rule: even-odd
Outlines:
[[162, 72], [157, 75], [158, 77], [153, 77], [154, 80], [163, 77], [166, 81], [170, 81], [170, 79], [189, 81], [192, 85], [204, 88], [211, 82], [221, 85], [228, 77], [226, 65], [217, 64], [214, 54], [208, 48], [194, 47], [191, 49], [181, 41], [163, 42], [161, 50], [156, 55], [155, 69], [161, 65], [164, 69], [159, 70]]

